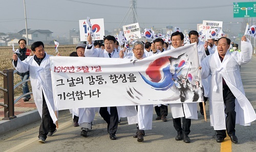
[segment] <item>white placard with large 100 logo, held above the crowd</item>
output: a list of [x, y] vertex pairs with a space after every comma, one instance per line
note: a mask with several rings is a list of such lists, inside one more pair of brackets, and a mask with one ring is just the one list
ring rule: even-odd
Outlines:
[[[90, 19], [92, 24], [92, 40], [103, 40], [103, 36], [105, 35], [104, 30], [104, 19]], [[89, 24], [87, 23], [87, 19], [79, 20], [79, 30], [80, 30], [80, 41], [87, 41], [88, 34], [90, 32]]]

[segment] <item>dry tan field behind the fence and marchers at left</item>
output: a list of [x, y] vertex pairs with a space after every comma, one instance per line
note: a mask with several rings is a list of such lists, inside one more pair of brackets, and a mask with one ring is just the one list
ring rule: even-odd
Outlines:
[[[58, 51], [61, 54], [61, 56], [69, 56], [69, 54], [73, 51], [75, 51], [76, 45], [59, 45], [58, 46]], [[27, 48], [30, 48], [30, 46], [28, 46]], [[15, 46], [15, 50], [17, 49], [17, 46]], [[55, 54], [55, 48], [54, 46], [45, 46], [45, 50], [47, 52], [47, 54], [50, 55], [56, 55]], [[0, 71], [3, 71], [4, 69], [14, 69], [12, 66], [12, 46], [0, 46]], [[14, 74], [14, 85], [20, 82], [20, 78], [19, 75]], [[3, 75], [0, 74], [0, 87], [4, 87], [3, 84]], [[30, 86], [30, 83], [29, 83]], [[30, 87], [30, 91], [31, 91], [31, 87]], [[14, 90], [14, 96], [16, 95], [21, 95], [23, 93], [22, 91], [22, 85], [20, 85], [19, 87], [17, 87]], [[0, 99], [3, 98], [3, 91], [0, 90]]]

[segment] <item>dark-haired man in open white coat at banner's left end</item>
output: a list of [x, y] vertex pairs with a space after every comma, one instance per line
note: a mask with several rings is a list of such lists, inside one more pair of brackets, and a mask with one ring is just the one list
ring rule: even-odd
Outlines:
[[38, 142], [45, 143], [46, 138], [57, 131], [54, 124], [57, 118], [54, 113], [50, 55], [45, 52], [44, 43], [41, 41], [34, 42], [31, 49], [34, 56], [29, 56], [24, 61], [20, 61], [17, 55], [13, 54], [13, 66], [18, 72], [29, 71], [30, 73], [36, 108], [42, 118]]

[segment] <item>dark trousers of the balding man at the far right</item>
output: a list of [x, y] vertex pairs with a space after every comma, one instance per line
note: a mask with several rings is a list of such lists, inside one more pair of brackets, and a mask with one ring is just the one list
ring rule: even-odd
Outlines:
[[[228, 87], [223, 88], [223, 100], [225, 104], [225, 114], [226, 117], [226, 130], [228, 136], [235, 135], [236, 130], [236, 111], [234, 111], [236, 97], [233, 95], [231, 90]], [[217, 137], [226, 137], [226, 130], [217, 130]]]

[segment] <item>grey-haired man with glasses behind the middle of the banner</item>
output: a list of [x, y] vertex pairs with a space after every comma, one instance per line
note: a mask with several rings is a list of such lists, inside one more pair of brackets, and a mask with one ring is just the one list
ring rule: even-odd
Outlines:
[[[152, 52], [148, 53], [148, 56], [152, 55]], [[119, 57], [123, 58], [124, 54], [120, 52]], [[133, 44], [133, 56], [125, 56], [126, 59], [133, 60], [141, 60], [146, 57], [144, 54], [144, 44], [141, 41], [136, 41]], [[129, 124], [137, 124], [137, 132], [133, 137], [137, 138], [138, 142], [144, 141], [144, 130], [152, 130], [153, 105], [126, 106], [125, 108], [133, 112], [136, 112], [135, 109], [137, 109], [137, 114], [135, 116], [127, 116], [127, 120]]]

